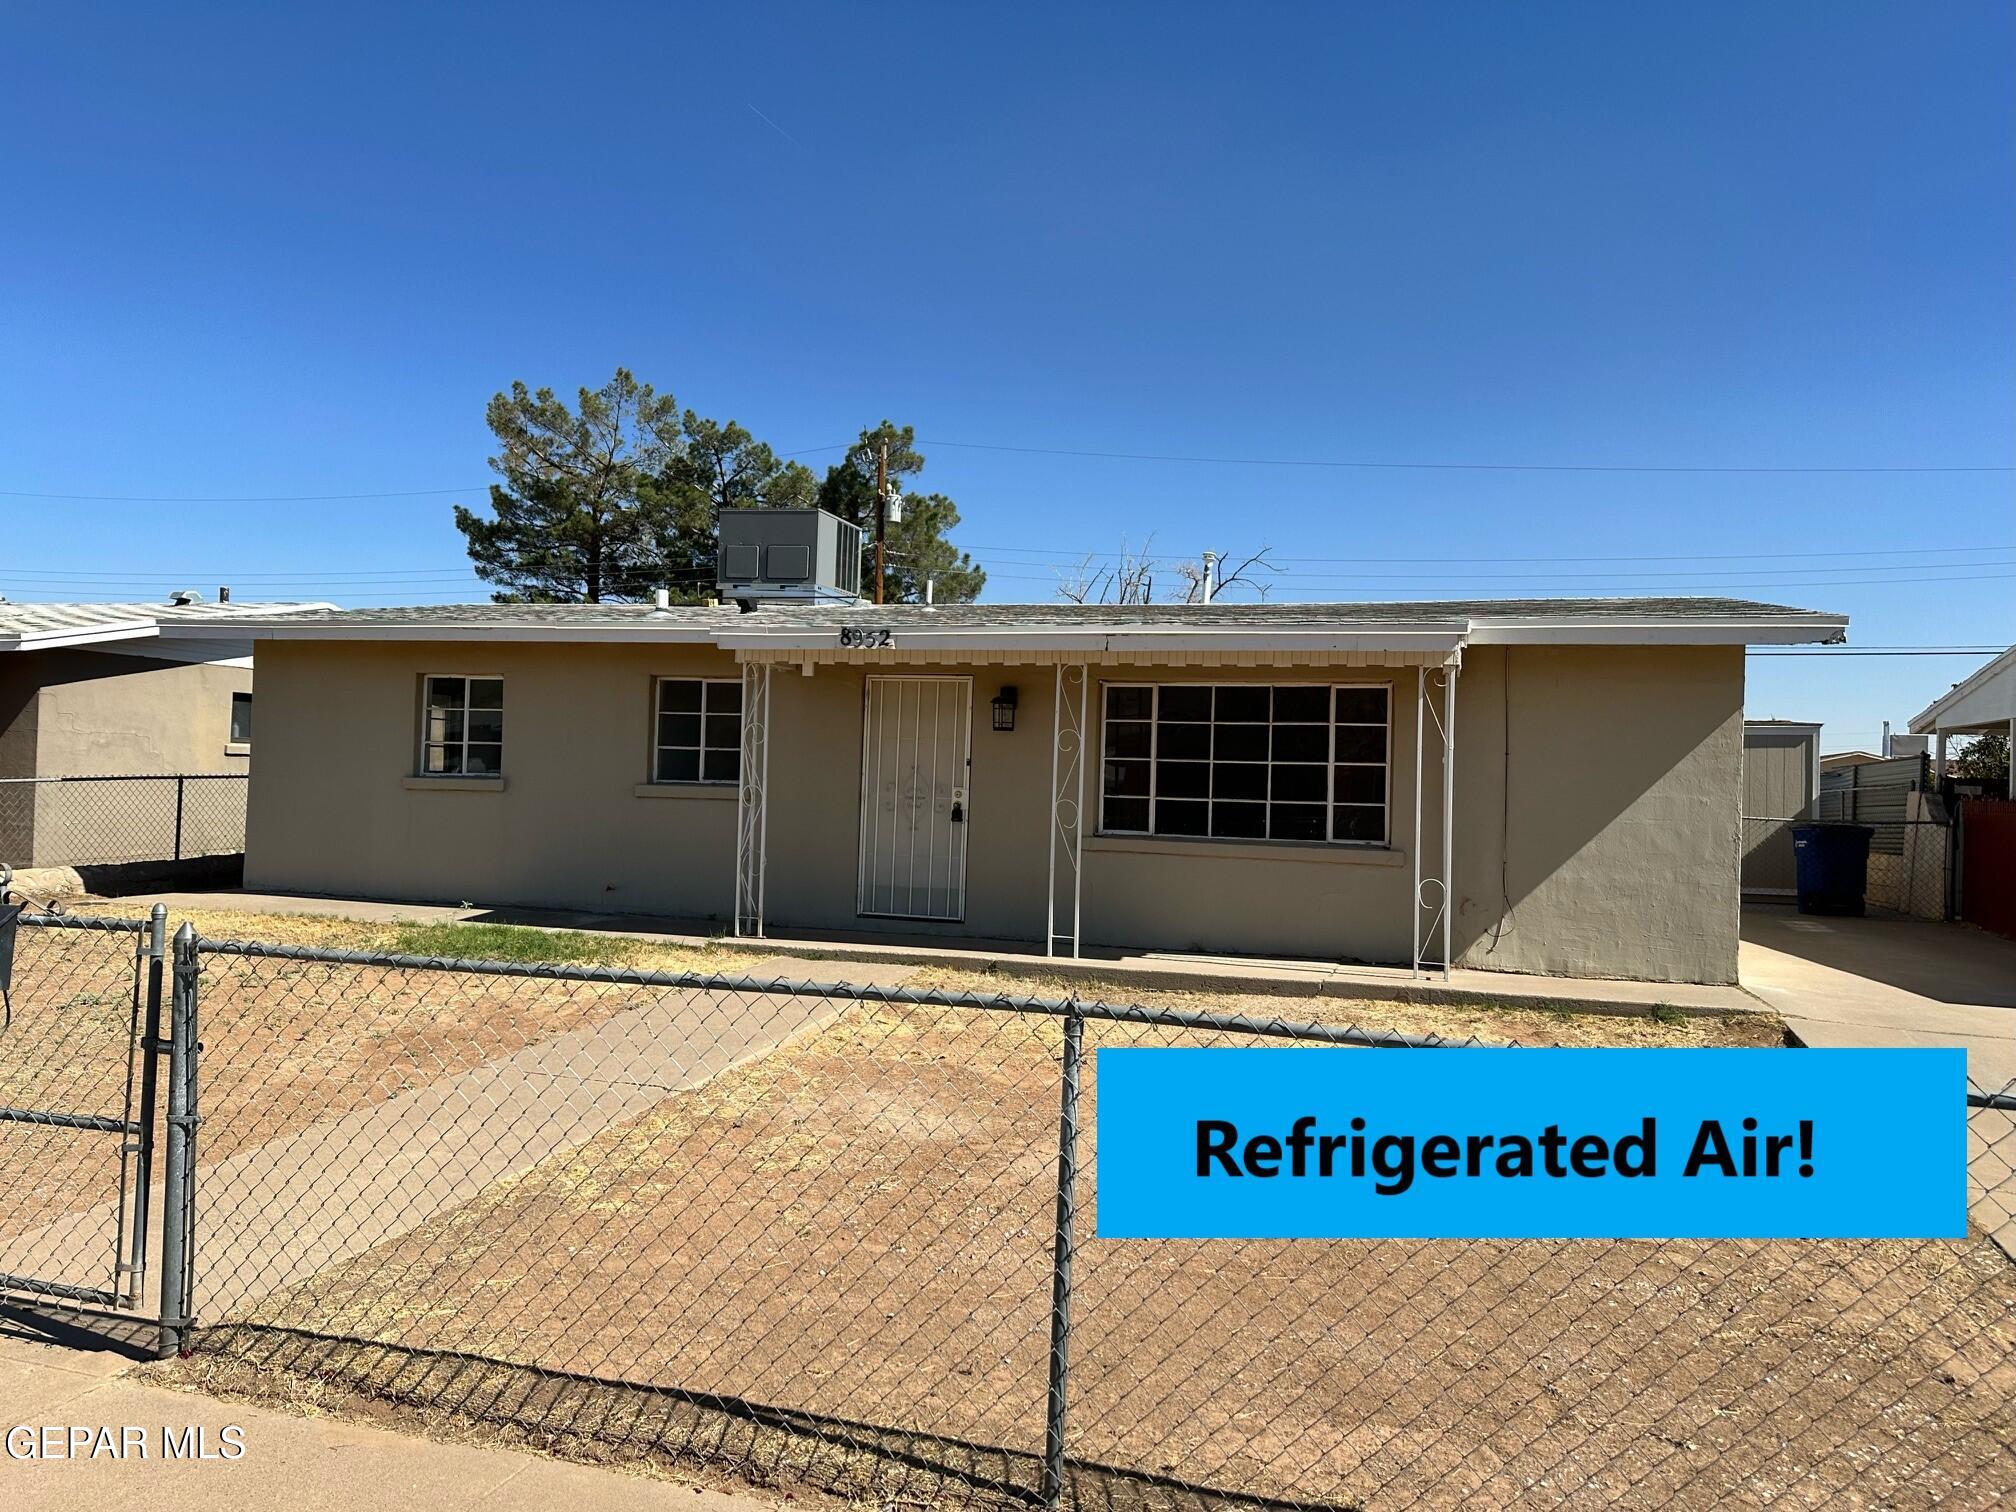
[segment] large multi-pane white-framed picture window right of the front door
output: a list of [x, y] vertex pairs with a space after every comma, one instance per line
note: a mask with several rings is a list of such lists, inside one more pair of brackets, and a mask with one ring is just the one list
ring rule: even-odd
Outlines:
[[1107, 683], [1109, 835], [1387, 843], [1385, 683]]

